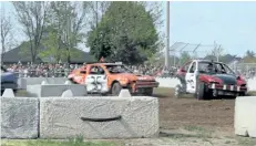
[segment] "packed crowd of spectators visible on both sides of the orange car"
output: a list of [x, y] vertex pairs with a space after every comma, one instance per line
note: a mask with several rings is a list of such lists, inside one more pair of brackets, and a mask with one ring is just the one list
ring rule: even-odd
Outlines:
[[[80, 67], [83, 64], [65, 64], [65, 63], [40, 63], [40, 64], [32, 64], [32, 63], [14, 63], [14, 64], [3, 64], [3, 67], [8, 71], [16, 72], [19, 77], [63, 77], [68, 76], [69, 73]], [[130, 65], [127, 66], [134, 73], [139, 74], [146, 74], [153, 76], [173, 76], [175, 69], [172, 67], [171, 70], [166, 71], [163, 66], [158, 65]]]

